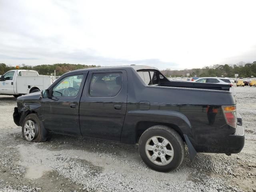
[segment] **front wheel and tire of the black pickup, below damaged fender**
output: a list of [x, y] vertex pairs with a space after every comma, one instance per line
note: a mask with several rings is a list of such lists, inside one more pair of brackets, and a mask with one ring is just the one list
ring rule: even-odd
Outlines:
[[22, 122], [22, 137], [24, 140], [32, 142], [44, 142], [47, 140], [47, 131], [44, 129], [37, 114], [29, 114], [24, 118]]

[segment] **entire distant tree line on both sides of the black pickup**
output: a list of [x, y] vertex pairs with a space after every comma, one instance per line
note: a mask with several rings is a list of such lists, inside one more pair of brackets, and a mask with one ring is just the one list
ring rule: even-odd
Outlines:
[[[30, 66], [22, 64], [20, 69], [25, 70], [36, 70], [40, 75], [50, 75], [54, 74], [54, 70], [56, 71], [56, 76], [60, 76], [66, 72], [85, 69], [85, 68], [94, 68], [100, 67], [96, 65], [82, 65], [82, 64], [68, 64], [68, 63], [57, 63], [52, 65], [37, 65]], [[9, 70], [16, 69], [15, 66], [8, 66], [4, 63], [0, 63], [0, 74], [4, 74]], [[185, 77], [186, 74], [190, 74], [190, 76], [197, 77], [234, 77], [235, 74], [238, 74], [239, 77], [250, 78], [251, 76], [256, 77], [256, 61], [252, 63], [244, 63], [240, 62], [235, 65], [214, 65], [210, 67], [204, 68], [193, 68], [193, 69], [185, 69], [185, 70], [171, 70], [166, 69], [162, 70], [162, 73], [167, 77]]]

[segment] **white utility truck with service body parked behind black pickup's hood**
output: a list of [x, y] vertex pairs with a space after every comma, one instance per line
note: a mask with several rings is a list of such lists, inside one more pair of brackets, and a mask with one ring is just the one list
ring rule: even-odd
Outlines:
[[20, 95], [47, 89], [54, 76], [40, 76], [33, 70], [10, 70], [0, 78], [0, 95]]

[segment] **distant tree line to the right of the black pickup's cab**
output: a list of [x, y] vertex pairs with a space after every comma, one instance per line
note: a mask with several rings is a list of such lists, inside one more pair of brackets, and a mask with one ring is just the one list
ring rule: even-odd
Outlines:
[[240, 62], [234, 65], [214, 65], [210, 67], [204, 68], [193, 68], [193, 69], [185, 69], [185, 70], [171, 70], [166, 69], [162, 70], [162, 73], [167, 77], [185, 77], [186, 74], [190, 74], [191, 76], [197, 77], [235, 77], [235, 74], [238, 74], [239, 77], [251, 78], [251, 76], [256, 77], [256, 61], [252, 63], [244, 63]]

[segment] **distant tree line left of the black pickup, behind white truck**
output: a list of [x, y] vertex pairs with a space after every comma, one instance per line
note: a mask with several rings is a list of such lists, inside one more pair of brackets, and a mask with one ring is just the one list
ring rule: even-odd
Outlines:
[[[56, 71], [56, 76], [63, 75], [66, 72], [78, 70], [78, 69], [86, 69], [86, 68], [94, 68], [100, 67], [96, 65], [82, 65], [82, 64], [68, 64], [68, 63], [57, 63], [52, 65], [37, 65], [37, 66], [30, 66], [22, 64], [19, 66], [19, 69], [25, 70], [36, 70], [40, 75], [54, 75], [54, 70]], [[4, 63], [0, 63], [0, 74], [3, 75], [5, 72], [9, 70], [16, 69], [15, 66], [8, 66]]]

